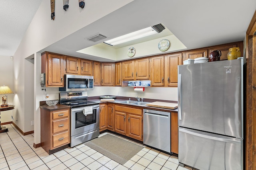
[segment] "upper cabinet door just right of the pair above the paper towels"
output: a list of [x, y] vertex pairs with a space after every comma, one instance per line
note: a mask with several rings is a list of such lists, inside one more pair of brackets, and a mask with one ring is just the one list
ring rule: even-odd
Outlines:
[[151, 86], [164, 86], [164, 56], [151, 57]]

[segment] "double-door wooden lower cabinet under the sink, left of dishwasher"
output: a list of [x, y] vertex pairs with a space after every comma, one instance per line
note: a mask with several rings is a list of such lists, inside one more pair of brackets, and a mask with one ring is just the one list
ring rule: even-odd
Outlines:
[[115, 132], [143, 141], [142, 109], [115, 105]]

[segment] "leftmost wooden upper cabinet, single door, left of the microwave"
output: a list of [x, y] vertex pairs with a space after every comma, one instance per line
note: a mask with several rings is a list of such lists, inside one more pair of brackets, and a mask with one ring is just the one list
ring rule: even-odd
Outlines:
[[64, 56], [44, 52], [41, 55], [41, 73], [45, 73], [46, 87], [64, 87]]

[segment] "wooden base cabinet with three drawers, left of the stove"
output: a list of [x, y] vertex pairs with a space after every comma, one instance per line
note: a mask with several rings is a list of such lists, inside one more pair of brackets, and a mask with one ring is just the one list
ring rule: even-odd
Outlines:
[[40, 112], [41, 147], [48, 154], [68, 147], [70, 143], [70, 107], [54, 110], [41, 107]]

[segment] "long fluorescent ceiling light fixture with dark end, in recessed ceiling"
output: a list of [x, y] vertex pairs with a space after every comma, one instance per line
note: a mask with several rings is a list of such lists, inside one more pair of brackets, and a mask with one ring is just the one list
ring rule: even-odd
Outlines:
[[[156, 26], [160, 26], [160, 30], [158, 28], [156, 28]], [[128, 41], [132, 41], [134, 39], [139, 39], [142, 37], [146, 37], [149, 35], [153, 35], [156, 33], [160, 33], [162, 30], [164, 30], [165, 27], [162, 24], [158, 24], [158, 25], [154, 25], [152, 27], [147, 27], [132, 33], [128, 33], [126, 35], [122, 35], [120, 37], [116, 37], [114, 39], [110, 39], [108, 41], [104, 41], [104, 43], [108, 44], [108, 45], [118, 45], [118, 44], [122, 44]]]

